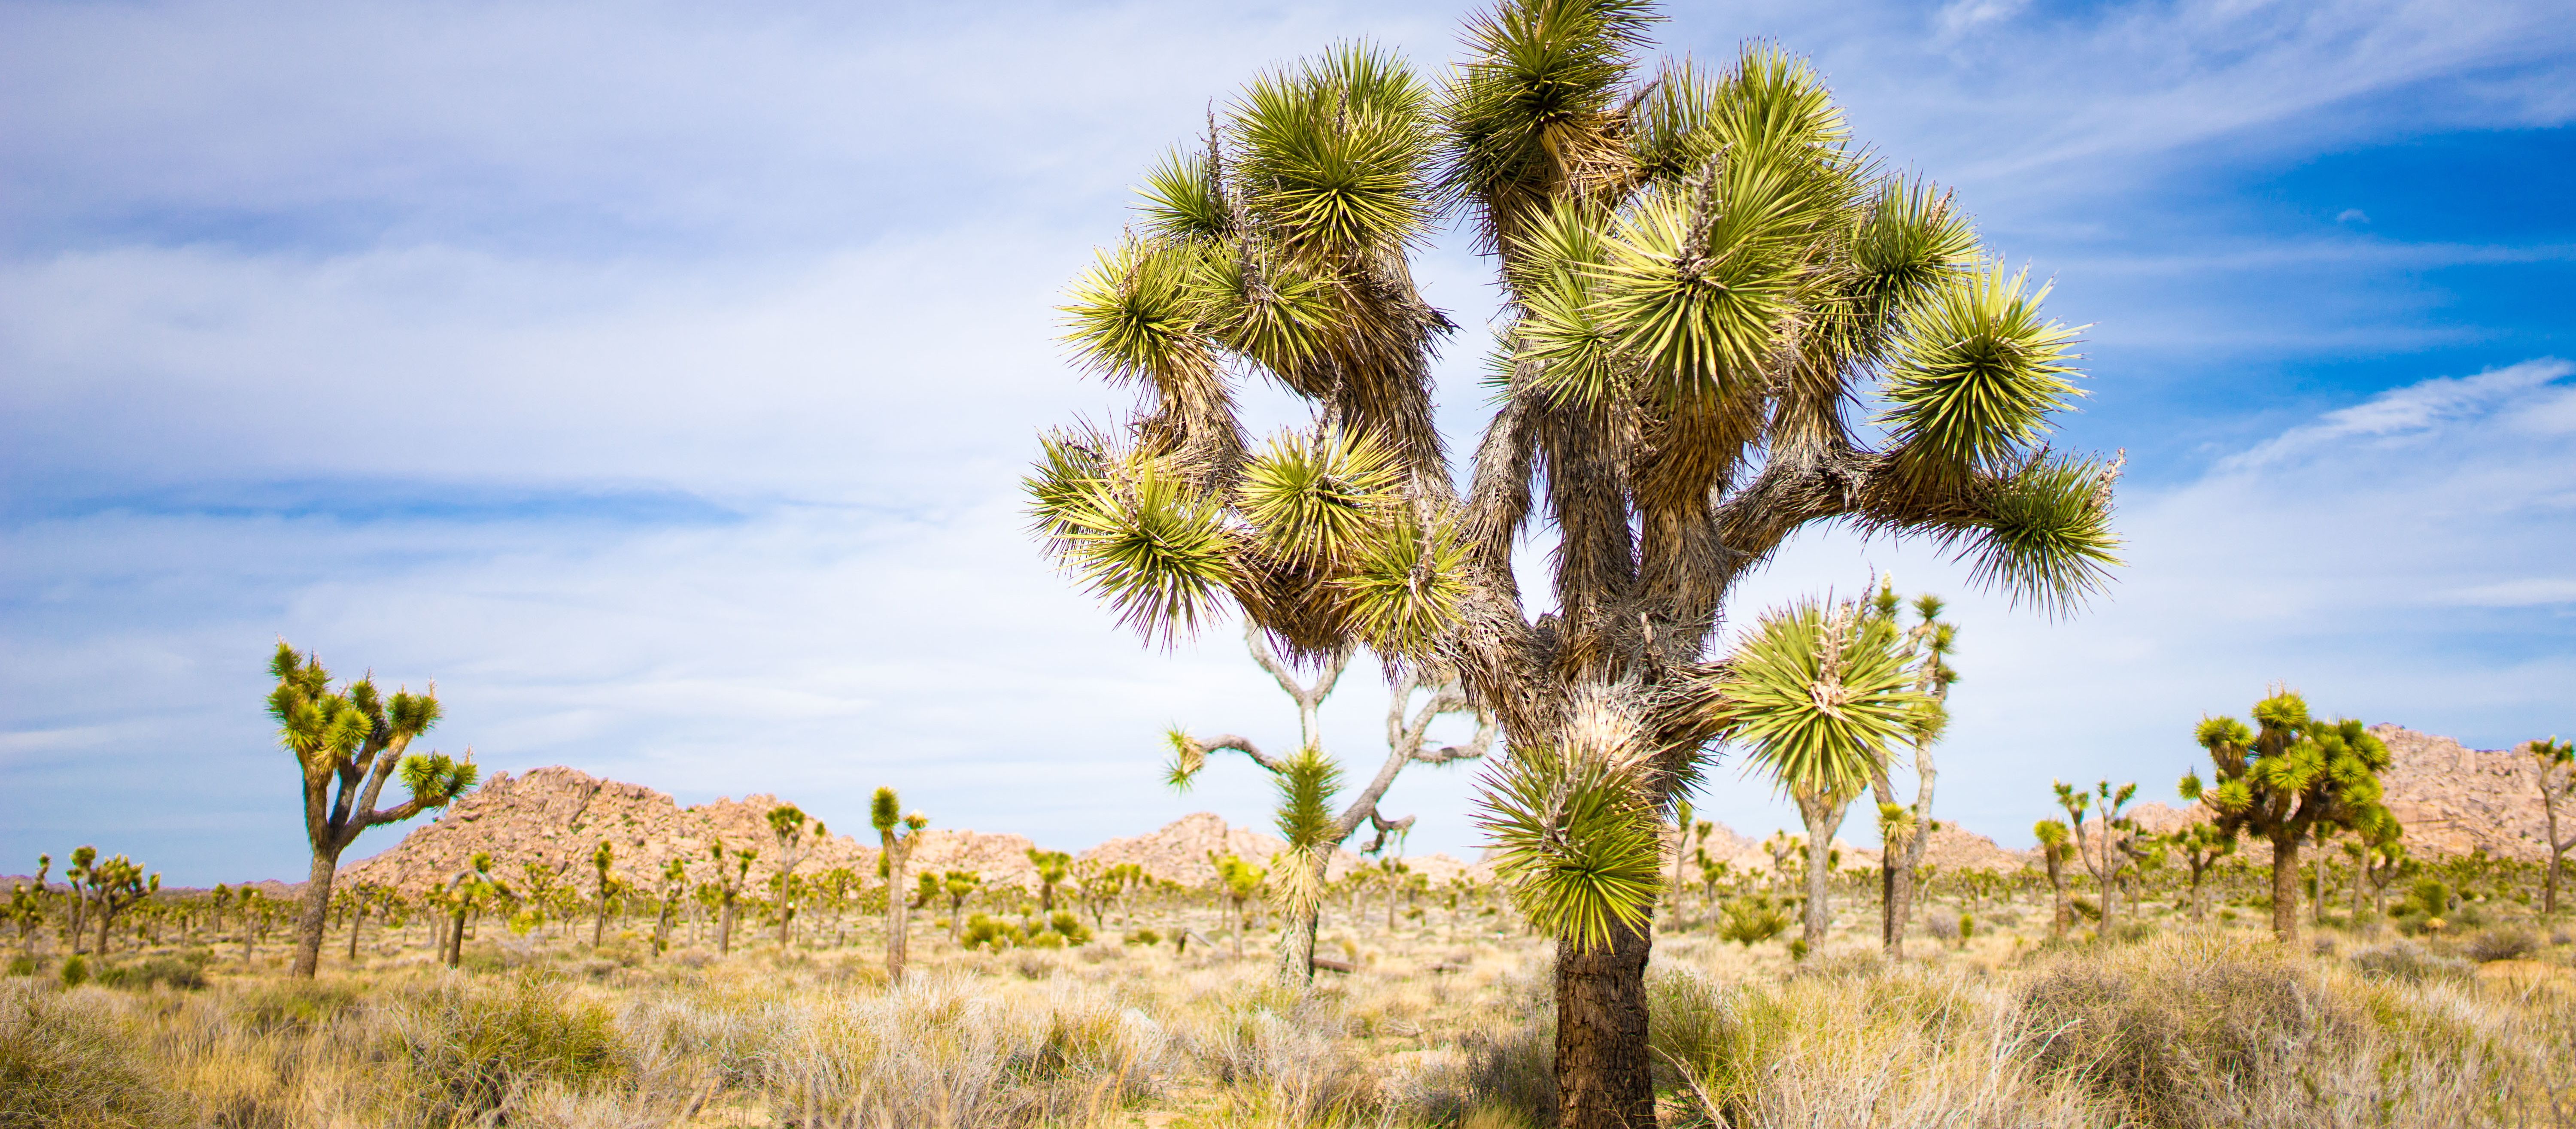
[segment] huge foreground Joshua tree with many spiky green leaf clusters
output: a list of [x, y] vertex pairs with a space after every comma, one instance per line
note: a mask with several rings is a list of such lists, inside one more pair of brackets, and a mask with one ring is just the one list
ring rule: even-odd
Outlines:
[[[1149, 639], [1231, 603], [1293, 655], [1455, 670], [1499, 717], [1486, 815], [1561, 941], [1569, 1129], [1654, 1116], [1654, 827], [1716, 729], [1734, 585], [1834, 521], [1935, 536], [2045, 608], [2115, 562], [2115, 464], [2043, 446], [2076, 397], [2043, 294], [1883, 173], [1811, 67], [1752, 46], [1641, 75], [1651, 21], [1502, 0], [1437, 93], [1368, 46], [1255, 80], [1066, 304], [1079, 361], [1149, 410], [1048, 436], [1030, 482], [1046, 544]], [[1443, 209], [1504, 289], [1466, 497], [1432, 428], [1453, 322], [1406, 263]], [[1314, 425], [1252, 451], [1249, 371]], [[1844, 410], [1870, 392], [1875, 446]], [[1540, 619], [1512, 572], [1530, 518], [1556, 531]]]

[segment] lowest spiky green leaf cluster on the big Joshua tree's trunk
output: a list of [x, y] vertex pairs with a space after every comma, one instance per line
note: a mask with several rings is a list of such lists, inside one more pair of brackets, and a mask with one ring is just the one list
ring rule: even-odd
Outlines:
[[1646, 925], [1664, 889], [1664, 825], [1628, 758], [1515, 745], [1476, 807], [1494, 874], [1535, 931], [1597, 951], [1615, 928]]

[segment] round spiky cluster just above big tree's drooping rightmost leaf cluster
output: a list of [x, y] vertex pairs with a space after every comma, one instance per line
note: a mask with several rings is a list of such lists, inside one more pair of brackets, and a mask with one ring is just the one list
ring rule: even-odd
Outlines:
[[2076, 330], [2040, 317], [2048, 286], [2027, 289], [2027, 271], [1996, 263], [1937, 286], [1906, 320], [1883, 394], [1901, 459], [1919, 474], [2007, 469], [2081, 394]]

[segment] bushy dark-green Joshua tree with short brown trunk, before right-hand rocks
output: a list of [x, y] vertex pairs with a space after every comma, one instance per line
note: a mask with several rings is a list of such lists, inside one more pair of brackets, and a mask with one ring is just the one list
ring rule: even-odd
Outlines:
[[2254, 729], [2233, 717], [2202, 717], [2200, 748], [2218, 768], [2182, 778], [2182, 799], [2218, 812], [2218, 830], [2272, 843], [2272, 936], [2298, 938], [2298, 848], [2318, 827], [2354, 827], [2380, 807], [2388, 745], [2362, 722], [2308, 717], [2287, 688], [2254, 704]]

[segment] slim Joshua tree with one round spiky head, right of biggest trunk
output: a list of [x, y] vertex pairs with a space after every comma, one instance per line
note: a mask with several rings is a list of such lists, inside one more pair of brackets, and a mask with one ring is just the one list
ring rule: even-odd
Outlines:
[[1749, 768], [1770, 773], [1806, 822], [1803, 954], [1819, 954], [1834, 923], [1834, 830], [1886, 773], [1888, 745], [1927, 717], [1899, 647], [1891, 616], [1857, 601], [1801, 601], [1762, 616], [1718, 683], [1718, 732], [1749, 750]]

